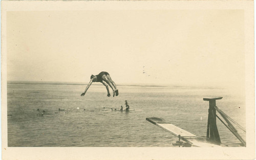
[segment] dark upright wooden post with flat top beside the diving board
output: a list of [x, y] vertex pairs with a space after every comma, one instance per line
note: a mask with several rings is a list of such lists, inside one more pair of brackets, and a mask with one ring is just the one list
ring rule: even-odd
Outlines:
[[216, 144], [221, 144], [221, 139], [219, 135], [219, 131], [216, 124], [216, 100], [220, 100], [222, 97], [216, 98], [204, 98], [204, 101], [209, 101], [209, 109], [208, 109], [208, 123], [207, 123], [207, 133], [206, 137], [210, 140], [214, 141]]

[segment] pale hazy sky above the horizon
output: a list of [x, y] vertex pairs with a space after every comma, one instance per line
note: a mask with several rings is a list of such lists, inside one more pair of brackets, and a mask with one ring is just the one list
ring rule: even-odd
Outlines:
[[243, 10], [7, 13], [7, 80], [244, 84]]

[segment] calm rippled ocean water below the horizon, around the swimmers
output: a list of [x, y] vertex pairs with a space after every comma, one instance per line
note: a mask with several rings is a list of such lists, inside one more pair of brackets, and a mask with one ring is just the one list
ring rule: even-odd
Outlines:
[[[8, 147], [172, 147], [178, 138], [145, 118], [163, 118], [206, 136], [205, 97], [223, 97], [217, 106], [245, 128], [245, 97], [232, 88], [118, 86], [119, 96], [109, 98], [103, 85], [91, 85], [80, 97], [85, 87], [8, 83]], [[125, 100], [135, 111], [102, 109], [120, 108]], [[239, 143], [218, 120], [217, 125], [222, 143]]]

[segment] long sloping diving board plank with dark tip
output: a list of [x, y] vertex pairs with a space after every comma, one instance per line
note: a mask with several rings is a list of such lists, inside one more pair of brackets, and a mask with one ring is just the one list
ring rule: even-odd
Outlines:
[[193, 147], [221, 147], [219, 145], [212, 144], [203, 138], [200, 139], [195, 134], [190, 133], [184, 129], [181, 129], [171, 123], [168, 123], [164, 119], [153, 117], [153, 118], [146, 118], [146, 120], [172, 133], [174, 136], [179, 137], [180, 135], [181, 140], [189, 143]]

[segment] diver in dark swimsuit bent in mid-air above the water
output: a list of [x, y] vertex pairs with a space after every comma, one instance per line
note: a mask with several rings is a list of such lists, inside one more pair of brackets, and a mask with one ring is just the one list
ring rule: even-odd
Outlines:
[[84, 90], [84, 92], [81, 94], [81, 96], [84, 96], [86, 94], [86, 92], [89, 89], [89, 87], [91, 86], [92, 82], [101, 82], [106, 87], [106, 90], [108, 91], [108, 95], [107, 95], [108, 97], [110, 97], [109, 86], [113, 90], [113, 97], [118, 96], [118, 89], [116, 87], [116, 84], [111, 79], [110, 74], [108, 72], [101, 72], [96, 76], [91, 75], [91, 80], [90, 80], [89, 84], [87, 85], [86, 89]]

